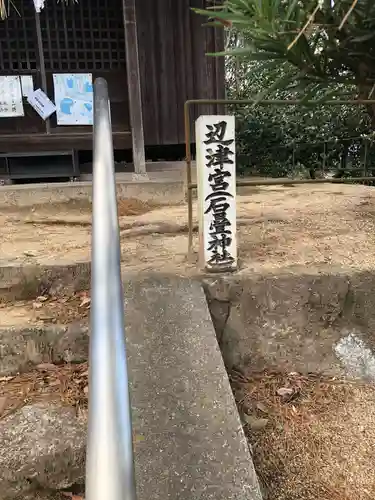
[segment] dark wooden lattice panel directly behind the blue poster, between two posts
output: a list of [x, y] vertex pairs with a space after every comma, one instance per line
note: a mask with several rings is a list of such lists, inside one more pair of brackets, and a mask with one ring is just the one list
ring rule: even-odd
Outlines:
[[[47, 1], [40, 14], [48, 95], [53, 73], [92, 73], [107, 80], [114, 131], [129, 130], [124, 23], [121, 0]], [[91, 127], [51, 126], [62, 132]]]

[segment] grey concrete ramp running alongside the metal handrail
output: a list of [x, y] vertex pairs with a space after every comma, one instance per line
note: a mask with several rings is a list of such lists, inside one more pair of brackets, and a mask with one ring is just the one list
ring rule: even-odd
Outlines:
[[129, 278], [125, 318], [139, 500], [260, 500], [200, 283]]

